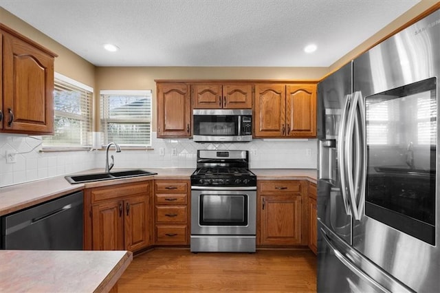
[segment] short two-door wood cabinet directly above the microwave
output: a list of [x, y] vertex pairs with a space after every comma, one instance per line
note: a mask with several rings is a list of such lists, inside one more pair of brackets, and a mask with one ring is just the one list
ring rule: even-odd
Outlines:
[[195, 109], [252, 109], [252, 85], [192, 85]]

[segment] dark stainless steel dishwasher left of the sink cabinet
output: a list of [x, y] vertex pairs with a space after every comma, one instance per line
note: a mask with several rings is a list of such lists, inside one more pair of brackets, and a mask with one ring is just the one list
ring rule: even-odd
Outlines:
[[83, 250], [83, 191], [1, 217], [1, 249]]

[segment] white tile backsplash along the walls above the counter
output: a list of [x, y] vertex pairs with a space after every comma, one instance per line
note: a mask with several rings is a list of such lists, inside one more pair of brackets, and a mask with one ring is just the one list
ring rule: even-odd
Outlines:
[[[261, 140], [243, 143], [197, 143], [161, 139], [152, 133], [153, 150], [111, 153], [115, 168], [195, 169], [197, 149], [243, 149], [250, 152], [251, 169], [316, 169], [316, 139]], [[7, 163], [6, 153], [16, 153]], [[41, 152], [41, 136], [0, 134], [0, 186], [30, 182], [94, 168], [104, 168], [104, 151]]]

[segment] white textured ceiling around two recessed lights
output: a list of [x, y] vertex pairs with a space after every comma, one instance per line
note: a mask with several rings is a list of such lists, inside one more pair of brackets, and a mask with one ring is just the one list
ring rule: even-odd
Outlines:
[[[417, 0], [0, 0], [97, 66], [328, 67]], [[103, 50], [104, 43], [120, 47]], [[303, 47], [316, 43], [306, 54]]]

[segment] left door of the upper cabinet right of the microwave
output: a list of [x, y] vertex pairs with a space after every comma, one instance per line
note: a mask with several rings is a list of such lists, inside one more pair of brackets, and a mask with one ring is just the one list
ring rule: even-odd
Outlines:
[[254, 137], [285, 135], [285, 85], [255, 85]]

